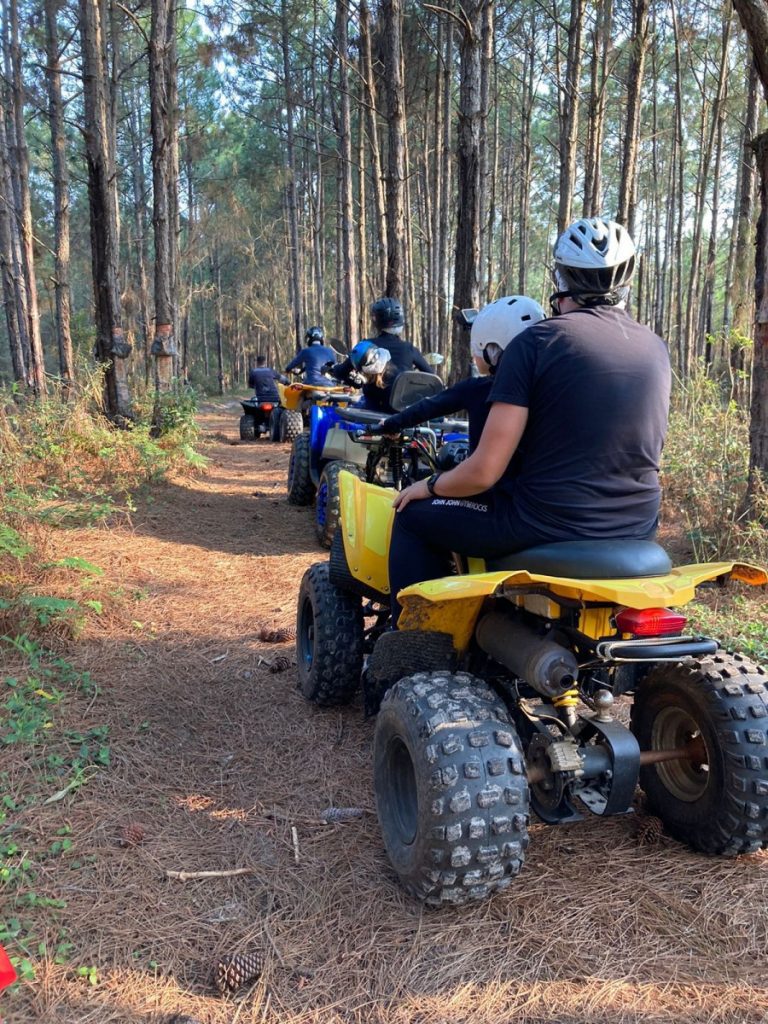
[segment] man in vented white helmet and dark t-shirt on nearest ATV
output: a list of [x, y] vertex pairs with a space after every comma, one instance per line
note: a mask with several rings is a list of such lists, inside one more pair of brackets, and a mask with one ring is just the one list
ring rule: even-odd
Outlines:
[[[395, 497], [393, 595], [447, 574], [452, 551], [655, 534], [671, 371], [665, 342], [625, 309], [635, 246], [595, 217], [566, 228], [554, 257], [555, 315], [507, 348], [477, 449]], [[396, 599], [392, 610], [396, 622]]]

